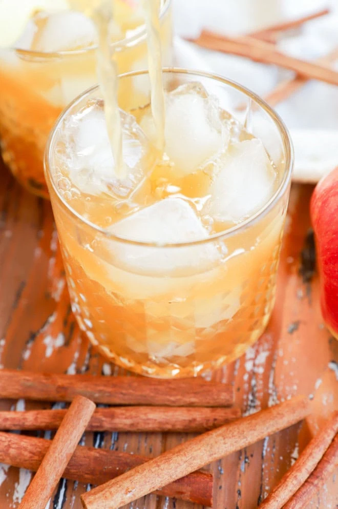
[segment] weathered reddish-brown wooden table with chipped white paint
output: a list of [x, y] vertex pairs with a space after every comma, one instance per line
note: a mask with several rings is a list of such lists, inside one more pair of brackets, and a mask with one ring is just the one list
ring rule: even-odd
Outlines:
[[[0, 175], [1, 367], [123, 374], [95, 353], [79, 332], [70, 309], [50, 204], [20, 188], [3, 165]], [[293, 426], [212, 465], [215, 507], [220, 509], [257, 507], [311, 434], [338, 406], [338, 342], [323, 325], [319, 309], [319, 280], [309, 234], [311, 192], [311, 186], [292, 188], [277, 304], [265, 334], [246, 355], [212, 378], [234, 384], [237, 404], [246, 414], [306, 394], [313, 397], [315, 415], [302, 426]], [[49, 405], [1, 400], [1, 409], [11, 407]], [[183, 434], [88, 433], [85, 442], [155, 456], [186, 438]], [[18, 506], [30, 479], [31, 474], [23, 469], [0, 466], [1, 509]], [[308, 507], [336, 507], [337, 483], [333, 476]], [[84, 491], [85, 485], [61, 480], [49, 509], [79, 509]], [[190, 509], [193, 505], [150, 495], [133, 507]]]

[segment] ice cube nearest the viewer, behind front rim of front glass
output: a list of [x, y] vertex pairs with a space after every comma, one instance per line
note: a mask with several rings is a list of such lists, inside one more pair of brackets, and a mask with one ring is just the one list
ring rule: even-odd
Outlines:
[[[110, 231], [123, 239], [163, 246], [208, 238], [195, 211], [181, 198], [166, 198], [145, 207], [111, 226]], [[205, 270], [218, 258], [212, 242], [188, 247], [114, 246], [115, 254], [130, 269], [165, 275], [175, 270]]]

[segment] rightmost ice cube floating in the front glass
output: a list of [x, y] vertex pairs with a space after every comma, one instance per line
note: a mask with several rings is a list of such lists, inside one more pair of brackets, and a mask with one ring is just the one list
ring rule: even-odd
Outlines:
[[218, 171], [204, 209], [217, 221], [238, 223], [272, 197], [276, 175], [260, 140], [231, 145]]

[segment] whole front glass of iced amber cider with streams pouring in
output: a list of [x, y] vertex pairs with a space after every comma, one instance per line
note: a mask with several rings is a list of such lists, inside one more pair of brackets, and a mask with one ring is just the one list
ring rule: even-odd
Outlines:
[[[149, 73], [118, 79], [119, 91], [142, 89], [137, 106], [124, 94], [119, 112], [123, 176], [110, 144], [118, 117], [105, 122], [117, 105], [107, 107], [103, 87], [62, 116], [46, 177], [72, 309], [90, 341], [143, 375], [196, 376], [242, 355], [270, 317], [287, 135], [238, 85], [160, 72], [156, 2], [144, 2]], [[104, 47], [101, 64], [116, 72]]]

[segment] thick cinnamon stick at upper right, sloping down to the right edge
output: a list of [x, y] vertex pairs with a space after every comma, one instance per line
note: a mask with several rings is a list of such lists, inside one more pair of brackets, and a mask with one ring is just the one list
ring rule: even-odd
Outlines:
[[276, 49], [274, 44], [260, 41], [255, 37], [226, 37], [214, 32], [203, 30], [197, 39], [190, 40], [203, 48], [231, 53], [256, 62], [274, 64], [297, 72], [307, 79], [319, 80], [338, 85], [338, 72], [325, 66], [306, 62], [293, 56], [285, 55]]

